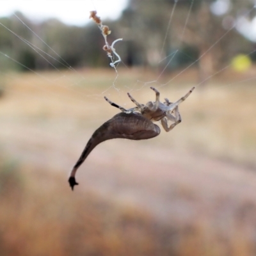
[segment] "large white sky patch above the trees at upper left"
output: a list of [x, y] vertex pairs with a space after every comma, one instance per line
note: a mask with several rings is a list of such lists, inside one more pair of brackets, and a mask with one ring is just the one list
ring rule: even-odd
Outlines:
[[20, 11], [32, 20], [58, 18], [71, 25], [83, 26], [90, 11], [102, 19], [117, 19], [128, 0], [1, 0], [0, 17]]

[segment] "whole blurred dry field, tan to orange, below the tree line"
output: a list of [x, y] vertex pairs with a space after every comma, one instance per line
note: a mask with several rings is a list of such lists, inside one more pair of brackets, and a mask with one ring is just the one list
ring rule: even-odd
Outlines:
[[174, 101], [197, 83], [195, 70], [157, 82], [145, 70], [3, 77], [1, 255], [255, 255], [250, 72], [226, 72], [196, 88], [170, 133], [99, 145], [73, 193], [70, 168], [92, 132], [118, 112], [103, 96], [131, 108], [126, 92], [145, 103], [156, 86], [162, 100]]

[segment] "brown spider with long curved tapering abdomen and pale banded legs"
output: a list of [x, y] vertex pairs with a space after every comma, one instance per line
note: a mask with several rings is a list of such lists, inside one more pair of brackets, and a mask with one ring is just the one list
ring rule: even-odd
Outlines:
[[[156, 93], [156, 101], [147, 102], [146, 105], [138, 103], [130, 93], [127, 93], [129, 98], [136, 104], [136, 107], [125, 109], [111, 102], [107, 97], [104, 97], [111, 106], [120, 109], [122, 112], [113, 116], [110, 120], [102, 124], [86, 144], [81, 156], [74, 165], [68, 182], [72, 190], [78, 185], [76, 182], [76, 172], [79, 166], [84, 162], [86, 157], [92, 152], [99, 143], [115, 138], [124, 138], [128, 140], [147, 140], [154, 138], [160, 134], [160, 128], [153, 122], [161, 120], [161, 124], [166, 132], [171, 131], [177, 124], [181, 122], [178, 106], [186, 100], [195, 87], [191, 88], [184, 97], [181, 97], [176, 102], [172, 103], [168, 99], [162, 103], [159, 101], [160, 93], [156, 88], [150, 87]], [[168, 127], [168, 120], [174, 122]]]

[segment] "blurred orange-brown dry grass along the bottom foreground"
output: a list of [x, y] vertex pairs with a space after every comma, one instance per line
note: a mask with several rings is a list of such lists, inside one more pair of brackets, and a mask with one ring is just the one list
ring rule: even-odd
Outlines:
[[[254, 255], [256, 205], [223, 221], [202, 212], [189, 223], [90, 191], [70, 193], [50, 170], [1, 161], [1, 255]], [[215, 221], [215, 222], [214, 222]]]

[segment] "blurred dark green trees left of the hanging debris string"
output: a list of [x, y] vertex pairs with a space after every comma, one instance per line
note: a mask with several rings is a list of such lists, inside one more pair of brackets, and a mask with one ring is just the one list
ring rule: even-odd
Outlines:
[[[27, 67], [17, 64], [16, 69], [108, 66], [106, 52], [100, 51], [104, 39], [95, 24], [67, 26], [57, 19], [35, 24], [22, 13], [0, 22], [0, 51]], [[1, 56], [0, 67], [10, 67], [9, 62]]]

